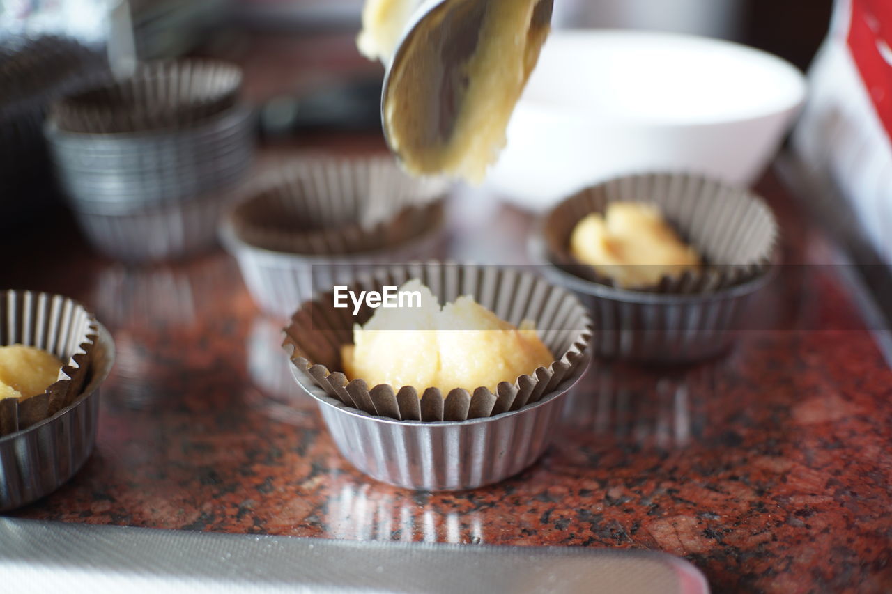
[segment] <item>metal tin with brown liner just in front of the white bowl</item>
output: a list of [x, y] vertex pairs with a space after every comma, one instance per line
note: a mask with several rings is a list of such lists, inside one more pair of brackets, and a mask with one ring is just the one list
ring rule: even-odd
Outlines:
[[[613, 201], [656, 202], [705, 256], [704, 270], [631, 290], [593, 280], [591, 268], [568, 263], [575, 223]], [[618, 178], [567, 199], [544, 217], [529, 246], [543, 274], [590, 309], [595, 354], [690, 363], [731, 346], [752, 295], [771, 279], [777, 242], [777, 222], [755, 194], [703, 177], [654, 174]]]

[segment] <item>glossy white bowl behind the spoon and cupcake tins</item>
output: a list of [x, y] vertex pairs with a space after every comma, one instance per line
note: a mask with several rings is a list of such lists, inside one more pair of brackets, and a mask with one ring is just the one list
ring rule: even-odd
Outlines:
[[648, 170], [747, 186], [804, 101], [799, 70], [744, 45], [648, 31], [554, 31], [487, 186], [531, 210]]

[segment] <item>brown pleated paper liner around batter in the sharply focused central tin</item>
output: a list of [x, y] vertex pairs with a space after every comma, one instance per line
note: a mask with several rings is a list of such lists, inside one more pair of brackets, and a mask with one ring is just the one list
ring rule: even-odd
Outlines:
[[349, 407], [379, 417], [431, 422], [494, 417], [518, 410], [582, 371], [591, 339], [591, 318], [565, 289], [511, 268], [429, 262], [377, 269], [374, 275], [360, 276], [351, 290], [381, 290], [412, 278], [430, 287], [441, 303], [469, 294], [515, 326], [524, 319], [533, 320], [555, 360], [549, 367], [501, 382], [496, 393], [478, 387], [473, 392], [458, 388], [443, 394], [425, 386], [404, 386], [394, 392], [390, 385], [369, 386], [361, 378], [348, 381], [339, 371], [341, 346], [352, 343], [352, 325], [365, 323], [374, 310], [364, 306], [354, 317], [347, 309], [335, 309], [333, 293], [328, 292], [305, 302], [285, 328], [283, 348], [293, 365]]

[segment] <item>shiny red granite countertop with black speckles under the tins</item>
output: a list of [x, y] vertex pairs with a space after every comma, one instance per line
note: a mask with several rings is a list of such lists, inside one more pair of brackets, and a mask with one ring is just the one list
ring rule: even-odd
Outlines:
[[[786, 261], [832, 260], [775, 177], [759, 189]], [[500, 245], [481, 248], [499, 261], [521, 250], [529, 220], [491, 214], [500, 231], [476, 241]], [[118, 347], [93, 457], [14, 516], [659, 549], [717, 592], [892, 590], [892, 371], [836, 268], [780, 274], [754, 313], [771, 329], [744, 333], [723, 359], [596, 364], [541, 462], [490, 488], [431, 494], [374, 483], [339, 456], [287, 376], [280, 324], [260, 317], [227, 255], [128, 269], [51, 236], [5, 266], [3, 285], [85, 301]]]

